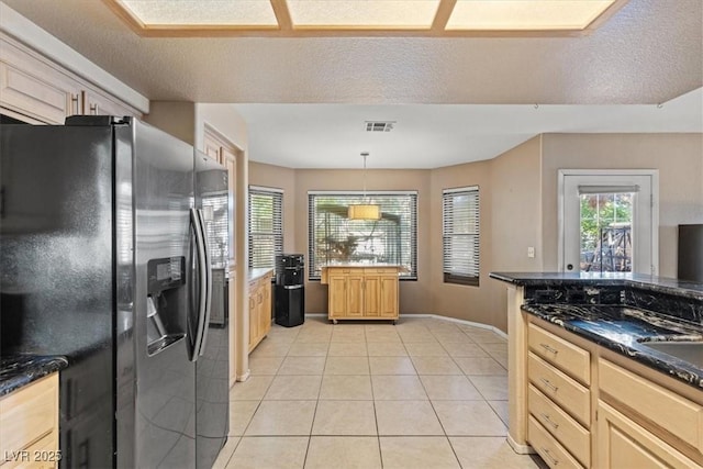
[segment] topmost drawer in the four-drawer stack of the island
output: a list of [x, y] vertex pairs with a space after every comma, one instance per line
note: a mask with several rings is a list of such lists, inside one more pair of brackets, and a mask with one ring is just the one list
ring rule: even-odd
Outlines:
[[583, 384], [591, 384], [591, 354], [539, 326], [529, 324], [527, 332], [529, 348]]

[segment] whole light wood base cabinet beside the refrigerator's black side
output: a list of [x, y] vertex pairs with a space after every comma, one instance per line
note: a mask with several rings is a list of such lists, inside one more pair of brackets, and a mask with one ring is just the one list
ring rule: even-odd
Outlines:
[[58, 465], [58, 373], [0, 398], [0, 467]]

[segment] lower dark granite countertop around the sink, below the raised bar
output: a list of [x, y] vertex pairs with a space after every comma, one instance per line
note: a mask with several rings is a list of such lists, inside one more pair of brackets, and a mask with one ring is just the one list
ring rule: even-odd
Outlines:
[[703, 326], [646, 310], [604, 304], [524, 304], [528, 313], [603, 347], [703, 389], [703, 369], [646, 346], [647, 342], [703, 340]]

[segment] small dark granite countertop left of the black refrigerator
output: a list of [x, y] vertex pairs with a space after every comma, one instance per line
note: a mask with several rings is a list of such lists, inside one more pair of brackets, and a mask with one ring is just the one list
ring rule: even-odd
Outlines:
[[68, 367], [63, 356], [8, 355], [0, 357], [0, 395]]

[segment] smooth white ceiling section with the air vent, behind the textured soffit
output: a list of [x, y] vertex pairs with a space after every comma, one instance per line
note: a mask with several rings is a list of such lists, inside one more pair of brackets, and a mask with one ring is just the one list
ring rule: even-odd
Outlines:
[[[253, 159], [294, 168], [436, 168], [489, 159], [540, 133], [703, 132], [703, 88], [662, 105], [236, 104]], [[365, 122], [394, 121], [390, 132]], [[703, 156], [702, 156], [703, 157]]]

